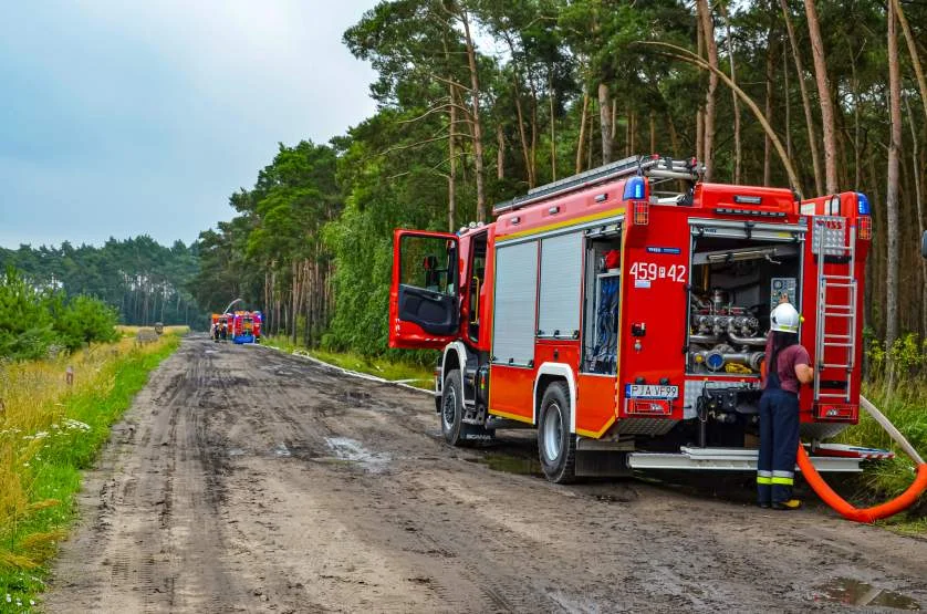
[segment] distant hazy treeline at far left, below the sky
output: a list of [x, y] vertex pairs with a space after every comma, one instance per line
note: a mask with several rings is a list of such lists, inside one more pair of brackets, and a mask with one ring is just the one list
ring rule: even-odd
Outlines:
[[110, 239], [102, 247], [0, 248], [0, 270], [12, 267], [37, 291], [95, 298], [129, 325], [155, 322], [205, 326], [188, 284], [199, 270], [197, 246], [165, 247], [147, 236]]

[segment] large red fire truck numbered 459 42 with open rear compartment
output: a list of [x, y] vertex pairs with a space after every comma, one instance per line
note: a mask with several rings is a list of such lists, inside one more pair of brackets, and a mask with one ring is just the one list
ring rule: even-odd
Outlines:
[[756, 468], [769, 313], [803, 314], [816, 368], [802, 440], [858, 419], [869, 204], [709, 184], [697, 160], [629, 157], [494, 208], [457, 233], [397, 230], [389, 344], [437, 348], [451, 445], [538, 430], [546, 477]]

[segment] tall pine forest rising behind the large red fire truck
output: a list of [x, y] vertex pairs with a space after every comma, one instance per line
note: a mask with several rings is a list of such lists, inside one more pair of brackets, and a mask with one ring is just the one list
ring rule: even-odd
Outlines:
[[236, 217], [200, 236], [205, 306], [382, 353], [392, 231], [456, 229], [494, 201], [639, 153], [716, 181], [858, 190], [874, 207], [866, 324], [927, 333], [927, 3], [394, 0], [344, 33], [377, 112], [280, 145]]

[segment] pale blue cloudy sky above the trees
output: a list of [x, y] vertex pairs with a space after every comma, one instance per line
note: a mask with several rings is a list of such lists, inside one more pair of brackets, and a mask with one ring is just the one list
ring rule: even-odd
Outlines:
[[194, 240], [277, 143], [374, 112], [341, 43], [375, 0], [6, 2], [0, 246]]

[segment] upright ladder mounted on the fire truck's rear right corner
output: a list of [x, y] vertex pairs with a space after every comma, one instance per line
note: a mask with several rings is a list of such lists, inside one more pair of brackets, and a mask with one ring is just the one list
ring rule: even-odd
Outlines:
[[[856, 358], [857, 283], [856, 227], [842, 216], [814, 216], [812, 252], [817, 257], [817, 329], [814, 339], [814, 403], [850, 403], [851, 374]], [[850, 235], [847, 241], [847, 233]], [[830, 272], [829, 272], [830, 268]], [[846, 269], [834, 273], [833, 269]], [[835, 295], [836, 294], [836, 295]], [[827, 362], [830, 358], [831, 362]], [[822, 392], [825, 370], [839, 370], [843, 378], [829, 377]]]

